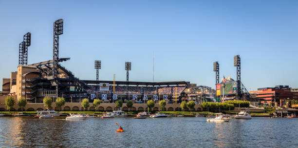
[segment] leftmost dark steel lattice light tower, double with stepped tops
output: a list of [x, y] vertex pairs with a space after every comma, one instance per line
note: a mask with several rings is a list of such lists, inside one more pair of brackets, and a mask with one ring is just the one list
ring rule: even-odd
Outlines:
[[31, 45], [31, 33], [24, 35], [23, 42], [19, 43], [19, 65], [28, 64], [28, 47]]

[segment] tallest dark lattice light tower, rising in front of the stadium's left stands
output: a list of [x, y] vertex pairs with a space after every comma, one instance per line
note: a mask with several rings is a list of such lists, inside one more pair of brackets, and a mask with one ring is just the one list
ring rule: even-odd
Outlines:
[[63, 34], [63, 19], [54, 22], [53, 85], [56, 85], [56, 98], [58, 98], [59, 35], [61, 34]]

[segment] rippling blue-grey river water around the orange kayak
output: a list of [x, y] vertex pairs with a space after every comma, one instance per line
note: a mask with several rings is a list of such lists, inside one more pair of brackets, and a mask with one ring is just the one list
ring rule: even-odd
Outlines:
[[[121, 125], [125, 132], [115, 132]], [[21, 148], [297, 148], [298, 119], [0, 117], [0, 146]]]

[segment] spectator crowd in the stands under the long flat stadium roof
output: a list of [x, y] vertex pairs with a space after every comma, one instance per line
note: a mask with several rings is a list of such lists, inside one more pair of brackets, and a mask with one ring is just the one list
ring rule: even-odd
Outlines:
[[[90, 89], [86, 89], [89, 93], [95, 93], [96, 92], [96, 85], [89, 85]], [[180, 94], [185, 89], [185, 86], [162, 86], [162, 87], [153, 87], [153, 86], [129, 86], [129, 93], [130, 94], [157, 94], [157, 91], [159, 94], [175, 94], [177, 88], [177, 94]], [[112, 93], [113, 92], [113, 86], [109, 86], [109, 91], [100, 91], [98, 88], [98, 92], [102, 93]], [[125, 94], [127, 92], [127, 86], [115, 86], [115, 94]]]

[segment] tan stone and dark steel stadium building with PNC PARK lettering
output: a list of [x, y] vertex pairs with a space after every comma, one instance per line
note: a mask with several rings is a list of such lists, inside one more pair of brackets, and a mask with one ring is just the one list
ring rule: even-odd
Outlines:
[[[59, 62], [70, 58], [60, 58]], [[183, 100], [211, 100], [214, 90], [207, 86], [197, 86], [186, 81], [177, 82], [126, 82], [79, 80], [73, 73], [58, 65], [58, 94], [53, 84], [53, 60], [29, 65], [18, 65], [10, 78], [3, 78], [4, 94], [12, 95], [16, 101], [24, 97], [29, 103], [42, 103], [44, 97], [56, 99], [64, 97], [67, 102], [80, 102], [82, 98], [102, 99], [103, 102], [124, 102], [133, 100], [167, 100], [168, 103], [180, 103]], [[105, 84], [108, 89], [96, 88], [96, 84]], [[127, 85], [129, 86], [127, 89]], [[100, 85], [101, 86], [101, 85]], [[100, 87], [99, 86], [99, 87]], [[128, 91], [127, 91], [128, 90]], [[204, 91], [203, 91], [204, 90]], [[97, 93], [96, 93], [97, 91]], [[97, 96], [96, 96], [97, 94]]]

